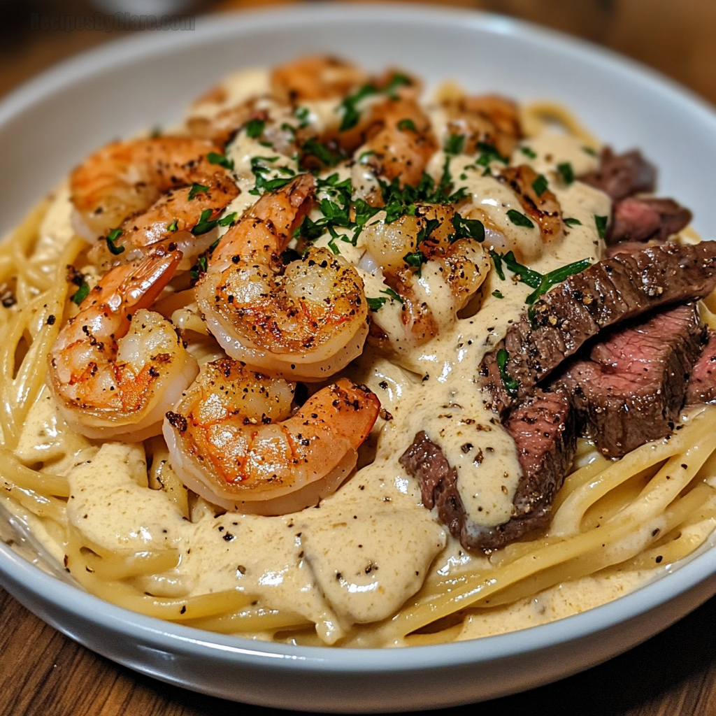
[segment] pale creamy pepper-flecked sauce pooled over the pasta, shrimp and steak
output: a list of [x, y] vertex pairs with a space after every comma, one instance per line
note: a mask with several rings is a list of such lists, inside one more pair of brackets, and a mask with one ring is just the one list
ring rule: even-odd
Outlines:
[[[261, 95], [267, 87], [265, 71], [239, 73], [227, 80], [223, 103], [205, 102], [193, 107], [192, 113], [211, 116], [223, 107]], [[307, 109], [309, 121], [320, 126], [331, 121], [335, 105], [315, 102]], [[440, 110], [432, 111], [432, 120], [441, 140], [444, 122]], [[472, 196], [470, 211], [463, 215], [481, 218], [488, 227], [484, 248], [490, 243], [498, 250], [519, 246], [522, 260], [542, 273], [583, 258], [599, 260], [601, 243], [594, 216], [609, 213], [609, 200], [579, 182], [565, 185], [555, 171], [558, 163], [568, 161], [579, 174], [593, 168], [596, 160], [581, 142], [563, 135], [542, 135], [523, 142], [523, 147], [531, 151], [525, 154], [518, 148], [519, 155], [512, 163], [528, 163], [543, 173], [561, 203], [563, 216], [579, 219], [581, 225], [568, 228], [563, 240], [554, 245], [542, 246], [537, 228], [515, 226], [509, 220], [509, 209], [521, 211], [516, 195], [494, 178], [483, 176], [484, 167], [475, 164], [475, 157], [458, 155], [450, 160], [450, 171], [455, 188], [465, 186]], [[241, 213], [256, 200], [248, 193], [255, 182], [252, 158], [276, 156], [276, 152], [241, 132], [227, 153], [234, 161], [241, 188], [227, 211]], [[437, 153], [428, 170], [439, 174], [444, 160], [445, 155]], [[290, 157], [282, 156], [271, 165], [297, 169]], [[342, 178], [347, 172], [344, 170]], [[267, 178], [277, 175], [271, 169]], [[42, 251], [57, 251], [69, 240], [70, 215], [67, 189], [61, 188], [42, 227]], [[379, 218], [377, 215], [376, 220]], [[328, 241], [325, 236], [316, 245], [325, 246]], [[362, 266], [366, 253], [362, 240], [359, 238], [356, 246], [340, 241], [338, 245], [342, 256], [359, 267], [366, 295], [382, 295], [385, 286], [379, 274]], [[296, 621], [315, 621], [319, 637], [333, 644], [349, 634], [354, 624], [394, 614], [420, 589], [430, 570], [446, 576], [473, 566], [490, 569], [484, 556], [465, 554], [435, 514], [422, 506], [420, 485], [398, 462], [417, 432], [425, 430], [439, 442], [450, 463], [458, 468], [460, 495], [470, 518], [480, 526], [494, 526], [510, 518], [521, 476], [513, 441], [485, 407], [476, 372], [483, 354], [524, 311], [524, 299], [532, 289], [514, 281], [509, 271], [504, 281], [489, 271], [480, 291], [479, 310], [464, 319], [454, 318], [449, 291], [430, 263], [423, 267], [418, 290], [439, 320], [440, 336], [410, 351], [396, 340], [397, 358], [392, 362], [366, 347], [364, 355], [349, 367], [350, 377], [378, 395], [390, 420], [379, 419], [362, 448], [360, 462], [369, 464], [315, 508], [281, 517], [216, 514], [199, 498], [190, 522], [167, 493], [147, 487], [141, 445], [101, 445], [70, 434], [47, 392], [30, 412], [19, 457], [28, 463], [53, 465], [54, 471], [67, 475], [72, 490], [67, 516], [88, 541], [105, 548], [141, 551], [175, 547], [180, 551], [176, 569], [137, 578], [140, 591], [190, 596], [239, 587], [255, 595], [266, 608], [296, 614]], [[191, 311], [191, 306], [180, 311], [180, 324], [196, 325], [191, 322]], [[397, 301], [387, 300], [379, 311], [382, 325], [393, 326], [395, 335], [400, 336]], [[203, 347], [197, 355], [213, 359], [221, 351], [216, 346]], [[61, 445], [71, 446], [69, 455]], [[24, 517], [33, 522], [32, 516]], [[34, 524], [39, 531], [39, 523]], [[61, 561], [62, 544], [44, 531], [39, 531], [39, 536]], [[557, 586], [538, 600], [470, 616], [461, 638], [558, 619], [609, 601], [642, 579], [642, 574], [631, 573]], [[255, 636], [261, 638], [261, 634]]]

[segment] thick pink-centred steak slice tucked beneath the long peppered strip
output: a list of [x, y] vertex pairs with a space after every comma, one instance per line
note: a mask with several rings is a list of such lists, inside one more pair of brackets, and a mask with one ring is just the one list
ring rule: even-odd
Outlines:
[[695, 306], [677, 306], [619, 327], [569, 366], [558, 384], [601, 453], [619, 458], [672, 432], [703, 337]]

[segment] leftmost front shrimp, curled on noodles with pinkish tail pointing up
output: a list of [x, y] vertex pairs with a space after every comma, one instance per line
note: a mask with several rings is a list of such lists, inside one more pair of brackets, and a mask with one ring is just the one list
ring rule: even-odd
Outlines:
[[115, 266], [89, 291], [49, 352], [60, 414], [87, 437], [144, 440], [198, 367], [174, 326], [148, 311], [173, 276], [180, 251], [158, 248]]

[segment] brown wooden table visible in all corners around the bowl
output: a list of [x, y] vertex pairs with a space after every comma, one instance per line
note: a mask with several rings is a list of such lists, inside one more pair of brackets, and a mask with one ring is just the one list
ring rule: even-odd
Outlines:
[[[234, 9], [271, 0], [232, 0]], [[631, 54], [716, 102], [714, 0], [455, 0], [542, 22]], [[29, 8], [0, 16], [0, 95], [57, 60], [113, 34], [27, 32]], [[48, 14], [85, 14], [83, 0], [35, 2]], [[529, 716], [716, 715], [716, 598], [631, 652], [588, 672], [483, 707], [445, 710]], [[268, 713], [170, 687], [117, 666], [54, 631], [0, 589], [3, 716], [223, 716]]]

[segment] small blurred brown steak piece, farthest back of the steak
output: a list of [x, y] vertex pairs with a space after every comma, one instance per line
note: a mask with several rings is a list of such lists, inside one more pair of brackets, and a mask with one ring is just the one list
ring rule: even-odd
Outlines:
[[578, 178], [618, 201], [633, 194], [654, 191], [657, 170], [642, 157], [639, 150], [614, 154], [611, 147], [604, 147], [599, 168]]

